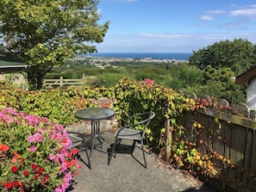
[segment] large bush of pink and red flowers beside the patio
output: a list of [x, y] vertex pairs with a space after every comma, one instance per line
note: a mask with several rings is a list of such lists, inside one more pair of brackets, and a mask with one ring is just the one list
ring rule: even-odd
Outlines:
[[4, 108], [0, 112], [0, 191], [66, 191], [78, 150], [62, 125]]

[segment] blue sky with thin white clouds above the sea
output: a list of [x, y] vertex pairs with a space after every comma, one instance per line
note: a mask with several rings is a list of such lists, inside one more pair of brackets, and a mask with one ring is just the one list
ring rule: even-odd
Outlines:
[[256, 44], [256, 0], [99, 0], [98, 53], [191, 53], [220, 40]]

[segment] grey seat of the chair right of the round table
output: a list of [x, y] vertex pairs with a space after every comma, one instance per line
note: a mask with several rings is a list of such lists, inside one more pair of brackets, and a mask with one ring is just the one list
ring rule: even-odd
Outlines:
[[141, 132], [140, 130], [134, 130], [129, 128], [119, 128], [117, 129], [115, 133], [115, 137], [117, 136], [117, 139], [134, 139], [134, 140], [140, 140], [141, 139]]

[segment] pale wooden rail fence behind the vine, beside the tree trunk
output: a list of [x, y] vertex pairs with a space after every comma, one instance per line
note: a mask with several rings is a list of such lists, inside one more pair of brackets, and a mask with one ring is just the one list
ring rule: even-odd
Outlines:
[[58, 79], [44, 79], [43, 87], [47, 89], [52, 89], [57, 87], [63, 88], [68, 86], [81, 86], [86, 84], [88, 81], [93, 81], [95, 79], [95, 76], [85, 77], [84, 74], [83, 77], [80, 79], [64, 79], [63, 77], [59, 77]]

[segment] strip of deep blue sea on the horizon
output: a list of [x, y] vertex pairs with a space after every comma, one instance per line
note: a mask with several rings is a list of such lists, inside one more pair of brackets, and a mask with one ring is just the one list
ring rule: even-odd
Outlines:
[[92, 53], [86, 56], [117, 59], [176, 59], [188, 60], [192, 53]]

